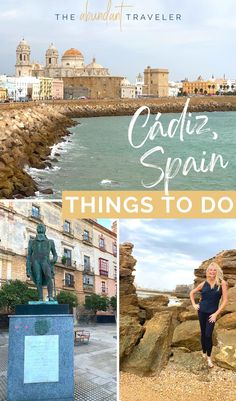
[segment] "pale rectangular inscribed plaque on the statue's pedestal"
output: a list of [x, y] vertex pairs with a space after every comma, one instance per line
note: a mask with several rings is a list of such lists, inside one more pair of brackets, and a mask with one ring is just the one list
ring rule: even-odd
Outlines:
[[59, 381], [59, 336], [25, 336], [24, 383]]

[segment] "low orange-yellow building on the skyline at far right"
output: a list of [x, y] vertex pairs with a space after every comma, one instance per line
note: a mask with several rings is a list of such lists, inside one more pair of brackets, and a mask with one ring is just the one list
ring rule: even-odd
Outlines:
[[201, 76], [196, 81], [183, 81], [185, 95], [215, 95], [218, 85], [213, 80], [205, 81]]

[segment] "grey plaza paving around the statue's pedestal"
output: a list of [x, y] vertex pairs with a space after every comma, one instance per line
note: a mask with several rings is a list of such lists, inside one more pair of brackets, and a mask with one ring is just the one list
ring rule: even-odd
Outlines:
[[[90, 331], [89, 344], [74, 348], [74, 401], [117, 401], [115, 324], [79, 326]], [[0, 401], [6, 401], [8, 333], [0, 333]], [[17, 350], [16, 350], [17, 352]]]

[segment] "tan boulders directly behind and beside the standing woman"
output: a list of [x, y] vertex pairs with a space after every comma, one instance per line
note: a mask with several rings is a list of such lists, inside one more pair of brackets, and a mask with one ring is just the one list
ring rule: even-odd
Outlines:
[[[236, 371], [236, 250], [220, 252], [204, 261], [195, 270], [195, 285], [205, 280], [206, 269], [211, 262], [217, 262], [228, 283], [228, 304], [218, 317], [214, 330], [213, 358], [215, 363]], [[192, 306], [179, 315], [180, 324], [174, 331], [172, 346], [176, 361], [192, 364], [194, 369], [202, 369], [202, 361], [197, 351], [201, 350], [198, 316]]]

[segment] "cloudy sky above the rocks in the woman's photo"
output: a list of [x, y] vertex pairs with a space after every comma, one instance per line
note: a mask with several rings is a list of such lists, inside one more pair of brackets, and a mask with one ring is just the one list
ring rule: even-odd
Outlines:
[[142, 288], [192, 284], [193, 270], [236, 248], [236, 219], [120, 220], [120, 243], [134, 244], [135, 282]]

